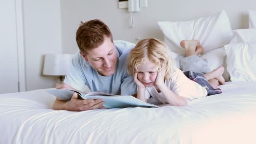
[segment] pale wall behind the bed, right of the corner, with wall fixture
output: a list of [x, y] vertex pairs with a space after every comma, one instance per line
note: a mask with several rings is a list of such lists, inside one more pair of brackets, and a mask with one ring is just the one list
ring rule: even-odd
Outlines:
[[134, 13], [131, 28], [127, 8], [118, 9], [118, 0], [61, 0], [63, 53], [78, 48], [75, 32], [80, 21], [101, 19], [112, 31], [114, 40], [136, 43], [136, 38], [156, 37], [163, 40], [157, 21], [182, 21], [208, 16], [225, 10], [232, 29], [248, 28], [248, 10], [256, 10], [256, 0], [148, 0], [148, 7]]

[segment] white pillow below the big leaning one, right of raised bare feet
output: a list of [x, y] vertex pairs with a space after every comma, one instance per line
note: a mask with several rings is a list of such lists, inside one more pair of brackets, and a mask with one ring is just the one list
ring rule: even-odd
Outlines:
[[219, 66], [223, 66], [224, 67], [223, 77], [226, 82], [230, 81], [230, 75], [227, 72], [227, 63], [226, 63], [227, 55], [224, 47], [216, 48], [214, 50], [208, 51], [207, 53], [202, 54], [200, 58], [207, 62], [208, 67], [210, 68], [211, 71], [213, 71], [213, 69], [218, 68]]

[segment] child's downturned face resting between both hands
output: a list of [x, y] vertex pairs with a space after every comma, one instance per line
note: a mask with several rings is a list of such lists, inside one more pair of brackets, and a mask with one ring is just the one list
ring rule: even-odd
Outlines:
[[147, 61], [139, 65], [137, 78], [145, 85], [145, 87], [152, 87], [157, 77], [158, 69], [154, 63]]

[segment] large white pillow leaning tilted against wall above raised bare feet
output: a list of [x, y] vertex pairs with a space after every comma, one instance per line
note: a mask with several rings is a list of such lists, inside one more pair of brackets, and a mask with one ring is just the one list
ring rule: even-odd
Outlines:
[[191, 21], [159, 21], [164, 34], [164, 42], [171, 51], [185, 54], [181, 40], [199, 40], [205, 52], [229, 43], [232, 29], [225, 11]]

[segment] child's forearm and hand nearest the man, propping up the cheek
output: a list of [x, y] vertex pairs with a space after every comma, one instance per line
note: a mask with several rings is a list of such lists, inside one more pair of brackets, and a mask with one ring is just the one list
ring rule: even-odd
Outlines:
[[145, 97], [145, 85], [143, 83], [141, 83], [138, 78], [137, 78], [137, 72], [134, 73], [133, 77], [134, 77], [134, 82], [136, 83], [136, 85], [138, 85], [138, 93], [137, 93], [137, 99], [147, 102], [147, 99]]

